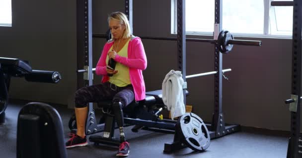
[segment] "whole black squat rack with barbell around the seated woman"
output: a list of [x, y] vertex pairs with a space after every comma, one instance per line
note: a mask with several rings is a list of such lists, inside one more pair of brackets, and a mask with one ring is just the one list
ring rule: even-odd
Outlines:
[[[130, 26], [132, 26], [132, 9], [133, 0], [125, 0], [125, 14], [127, 15]], [[105, 34], [93, 34], [92, 35], [92, 7], [91, 0], [77, 0], [77, 72], [84, 72], [84, 80], [81, 75], [77, 76], [77, 87], [88, 86], [92, 84], [92, 38], [108, 38]], [[214, 113], [212, 124], [207, 124], [210, 129], [211, 139], [222, 137], [232, 132], [238, 131], [239, 125], [226, 125], [222, 112], [222, 77], [226, 70], [223, 70], [223, 53], [220, 52], [218, 37], [222, 31], [222, 3], [221, 0], [215, 0], [215, 31], [214, 40], [205, 39], [186, 39], [185, 35], [185, 0], [177, 0], [177, 38], [154, 38], [154, 37], [140, 37], [141, 39], [154, 39], [154, 40], [177, 40], [177, 68], [182, 72], [184, 84], [184, 103], [186, 103], [186, 78], [192, 78], [197, 76], [204, 76], [215, 74], [214, 78]], [[210, 42], [215, 44], [215, 61], [214, 61], [214, 72], [197, 74], [186, 76], [186, 41], [201, 41]], [[261, 41], [255, 40], [228, 40], [227, 45], [238, 44], [238, 45], [254, 45], [261, 46]], [[84, 58], [84, 63], [82, 59]], [[84, 68], [84, 69], [83, 69]], [[82, 70], [80, 70], [82, 69]], [[229, 69], [227, 69], [229, 71]], [[89, 103], [89, 109], [93, 109], [92, 103]], [[92, 122], [95, 121], [94, 112], [91, 113]], [[86, 123], [86, 129], [91, 125]], [[93, 131], [87, 130], [88, 133]], [[174, 138], [176, 139], [176, 138]], [[175, 146], [175, 145], [174, 145]]]

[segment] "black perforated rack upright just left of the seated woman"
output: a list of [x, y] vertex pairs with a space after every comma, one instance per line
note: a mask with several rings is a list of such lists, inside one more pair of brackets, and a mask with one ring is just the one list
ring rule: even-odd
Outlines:
[[[76, 0], [76, 39], [77, 39], [77, 70], [87, 69], [84, 73], [77, 75], [77, 89], [92, 85], [92, 0]], [[84, 59], [84, 60], [83, 60]], [[93, 104], [88, 104], [88, 117], [90, 123], [86, 122], [86, 134], [100, 127], [94, 123], [95, 115]]]

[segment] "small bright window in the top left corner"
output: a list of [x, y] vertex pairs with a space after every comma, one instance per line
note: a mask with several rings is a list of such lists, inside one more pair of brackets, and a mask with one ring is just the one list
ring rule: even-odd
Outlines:
[[0, 26], [11, 26], [11, 0], [0, 0]]

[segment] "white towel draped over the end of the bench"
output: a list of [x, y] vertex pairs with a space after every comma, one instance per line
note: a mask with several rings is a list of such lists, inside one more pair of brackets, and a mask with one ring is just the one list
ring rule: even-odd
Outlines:
[[171, 70], [162, 82], [162, 101], [171, 111], [171, 119], [186, 113], [183, 103], [183, 79], [180, 71]]

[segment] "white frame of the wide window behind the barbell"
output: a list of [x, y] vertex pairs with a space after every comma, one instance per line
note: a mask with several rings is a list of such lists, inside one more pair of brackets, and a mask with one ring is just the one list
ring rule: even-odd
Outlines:
[[[233, 36], [252, 37], [252, 38], [257, 37], [257, 38], [292, 39], [293, 35], [272, 35], [271, 34], [272, 27], [274, 26], [275, 28], [277, 28], [277, 26], [276, 26], [277, 24], [274, 23], [274, 21], [276, 20], [276, 16], [273, 13], [275, 11], [275, 8], [274, 8], [274, 6], [271, 6], [271, 1], [273, 1], [273, 0], [263, 0], [263, 3], [264, 3], [263, 34], [232, 33]], [[171, 34], [177, 34], [177, 0], [171, 0]], [[214, 34], [213, 32], [186, 31], [186, 35], [213, 36], [213, 34]]]

